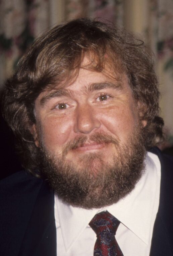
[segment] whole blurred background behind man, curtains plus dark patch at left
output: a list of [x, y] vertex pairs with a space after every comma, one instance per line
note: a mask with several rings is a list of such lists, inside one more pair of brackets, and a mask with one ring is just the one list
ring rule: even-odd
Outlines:
[[[125, 27], [144, 40], [155, 54], [166, 141], [173, 146], [173, 0], [0, 0], [0, 91], [18, 60], [42, 33], [79, 17], [99, 17]], [[1, 116], [0, 178], [21, 168], [14, 138]]]

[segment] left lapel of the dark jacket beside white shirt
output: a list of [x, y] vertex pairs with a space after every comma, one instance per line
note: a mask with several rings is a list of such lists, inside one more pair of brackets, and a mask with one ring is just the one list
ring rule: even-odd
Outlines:
[[19, 256], [56, 256], [54, 193], [43, 183], [33, 208]]

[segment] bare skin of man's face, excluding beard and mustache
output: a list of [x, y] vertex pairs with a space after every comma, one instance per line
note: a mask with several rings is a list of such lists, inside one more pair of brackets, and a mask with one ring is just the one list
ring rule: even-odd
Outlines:
[[69, 150], [66, 161], [81, 165], [82, 157], [95, 153], [105, 163], [110, 163], [112, 157], [117, 156], [116, 147], [112, 143], [93, 142], [90, 136], [104, 133], [123, 145], [139, 126], [138, 104], [127, 77], [110, 74], [106, 70], [96, 72], [80, 68], [74, 83], [41, 93], [35, 102], [36, 146], [40, 146], [41, 140], [48, 153], [61, 156], [69, 141], [85, 135], [87, 141]]

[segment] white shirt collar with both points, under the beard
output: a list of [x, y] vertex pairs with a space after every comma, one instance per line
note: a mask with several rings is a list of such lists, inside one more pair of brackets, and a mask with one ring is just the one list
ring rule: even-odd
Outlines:
[[155, 203], [158, 203], [155, 197], [160, 190], [161, 166], [158, 157], [150, 152], [147, 154], [145, 164], [145, 171], [132, 192], [117, 203], [103, 209], [86, 210], [73, 207], [55, 196], [58, 214], [56, 225], [61, 227], [66, 251], [71, 248], [95, 214], [103, 210], [109, 211], [144, 243], [148, 244], [153, 209]]

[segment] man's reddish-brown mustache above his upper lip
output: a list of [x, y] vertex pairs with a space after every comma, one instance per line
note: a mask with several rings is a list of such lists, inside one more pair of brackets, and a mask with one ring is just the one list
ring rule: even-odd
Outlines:
[[77, 149], [82, 147], [85, 142], [96, 142], [96, 143], [113, 143], [115, 145], [119, 144], [118, 139], [114, 138], [113, 136], [106, 134], [106, 133], [94, 133], [90, 136], [80, 135], [76, 136], [74, 139], [70, 140], [62, 150], [62, 155], [65, 156], [68, 151]]

